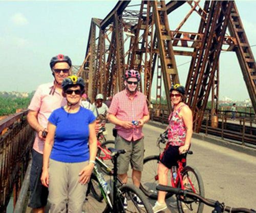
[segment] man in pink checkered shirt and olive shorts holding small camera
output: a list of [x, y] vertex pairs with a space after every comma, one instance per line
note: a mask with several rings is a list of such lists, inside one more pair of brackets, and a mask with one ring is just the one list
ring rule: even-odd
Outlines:
[[116, 125], [116, 149], [125, 149], [126, 153], [118, 157], [118, 175], [127, 182], [127, 171], [132, 164], [132, 179], [139, 187], [143, 169], [143, 125], [150, 119], [146, 97], [139, 92], [140, 74], [136, 70], [127, 70], [124, 75], [125, 89], [118, 92], [111, 102], [108, 119]]

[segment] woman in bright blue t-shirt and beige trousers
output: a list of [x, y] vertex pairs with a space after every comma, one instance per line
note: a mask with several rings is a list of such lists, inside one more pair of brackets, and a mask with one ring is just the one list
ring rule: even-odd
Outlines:
[[95, 116], [92, 111], [80, 107], [83, 92], [81, 78], [64, 79], [62, 95], [67, 104], [54, 110], [48, 119], [41, 181], [49, 188], [52, 213], [82, 211], [85, 184], [95, 165]]

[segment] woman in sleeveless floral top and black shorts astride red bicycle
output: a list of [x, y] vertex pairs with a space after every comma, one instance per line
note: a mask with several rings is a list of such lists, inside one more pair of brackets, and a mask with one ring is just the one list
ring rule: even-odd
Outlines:
[[[188, 151], [193, 133], [193, 116], [190, 108], [184, 103], [185, 88], [176, 84], [170, 88], [170, 99], [173, 103], [173, 111], [169, 115], [168, 131], [169, 147], [161, 155], [158, 165], [159, 184], [167, 185], [167, 174], [173, 165], [178, 166], [182, 153]], [[154, 213], [167, 208], [165, 203], [165, 192], [158, 192], [158, 199], [153, 207]]]

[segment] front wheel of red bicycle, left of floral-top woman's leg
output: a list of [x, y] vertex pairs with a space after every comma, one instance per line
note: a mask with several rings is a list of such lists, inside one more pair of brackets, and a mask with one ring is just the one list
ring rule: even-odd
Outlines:
[[[148, 156], [143, 159], [143, 172], [140, 181], [140, 190], [149, 198], [156, 200], [158, 191], [156, 186], [158, 184], [158, 163], [159, 155]], [[168, 174], [168, 182], [170, 183], [170, 174]], [[172, 197], [172, 193], [166, 193], [166, 199]]]

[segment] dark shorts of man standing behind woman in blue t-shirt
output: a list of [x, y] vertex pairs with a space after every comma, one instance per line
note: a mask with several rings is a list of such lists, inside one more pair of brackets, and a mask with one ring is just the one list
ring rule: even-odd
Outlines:
[[32, 150], [32, 165], [30, 171], [30, 202], [31, 208], [42, 208], [47, 204], [48, 188], [41, 183], [42, 154]]

